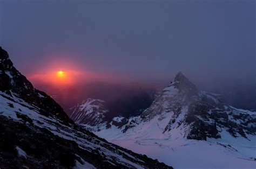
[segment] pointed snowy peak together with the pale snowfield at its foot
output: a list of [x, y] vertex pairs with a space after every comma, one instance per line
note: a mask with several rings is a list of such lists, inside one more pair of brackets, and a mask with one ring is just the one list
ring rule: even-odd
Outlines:
[[[256, 164], [256, 112], [225, 105], [220, 95], [199, 91], [181, 72], [142, 115], [113, 118], [97, 129], [96, 135], [112, 143], [176, 168]], [[179, 163], [181, 158], [186, 163]]]

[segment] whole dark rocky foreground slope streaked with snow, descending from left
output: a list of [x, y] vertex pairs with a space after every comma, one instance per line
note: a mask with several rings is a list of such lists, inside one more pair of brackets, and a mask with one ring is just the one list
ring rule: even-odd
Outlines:
[[0, 47], [0, 168], [171, 168], [77, 126]]

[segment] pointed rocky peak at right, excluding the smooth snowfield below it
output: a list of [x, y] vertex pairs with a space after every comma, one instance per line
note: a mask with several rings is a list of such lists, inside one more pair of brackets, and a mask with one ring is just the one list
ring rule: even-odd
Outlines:
[[172, 118], [163, 133], [180, 129], [188, 139], [221, 138], [223, 130], [232, 137], [256, 133], [256, 114], [225, 106], [219, 95], [198, 91], [181, 72], [141, 117], [146, 122], [156, 116], [164, 119], [166, 114]]

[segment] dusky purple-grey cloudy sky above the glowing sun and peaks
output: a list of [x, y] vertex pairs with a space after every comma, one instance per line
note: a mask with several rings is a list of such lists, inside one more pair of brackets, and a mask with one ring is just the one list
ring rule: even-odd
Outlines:
[[167, 82], [255, 82], [255, 1], [5, 1], [0, 45], [25, 75], [84, 71]]

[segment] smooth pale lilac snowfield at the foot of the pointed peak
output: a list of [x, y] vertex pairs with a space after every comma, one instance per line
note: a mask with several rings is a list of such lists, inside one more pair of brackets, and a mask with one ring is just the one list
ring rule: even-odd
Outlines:
[[[157, 119], [157, 118], [156, 118]], [[137, 153], [172, 165], [174, 168], [255, 168], [256, 138], [231, 138], [221, 133], [221, 139], [190, 140], [179, 133], [161, 133], [161, 124], [141, 124], [125, 133], [120, 129], [95, 132], [107, 141]], [[155, 136], [152, 133], [156, 133]]]

